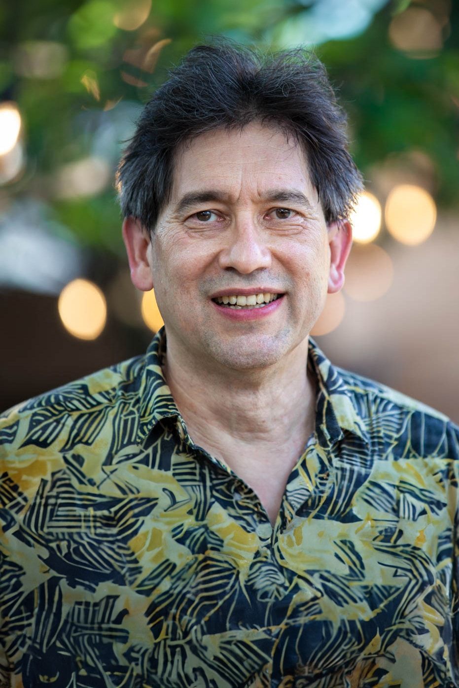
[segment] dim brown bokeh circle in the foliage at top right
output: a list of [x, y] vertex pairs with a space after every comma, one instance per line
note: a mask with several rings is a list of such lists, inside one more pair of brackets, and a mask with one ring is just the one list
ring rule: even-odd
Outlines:
[[389, 39], [398, 50], [429, 56], [443, 45], [442, 26], [427, 8], [411, 6], [392, 19]]

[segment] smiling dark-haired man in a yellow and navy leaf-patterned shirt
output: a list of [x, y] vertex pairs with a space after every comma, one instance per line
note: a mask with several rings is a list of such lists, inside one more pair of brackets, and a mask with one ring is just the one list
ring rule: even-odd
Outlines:
[[196, 47], [120, 164], [146, 356], [1, 427], [3, 685], [459, 685], [459, 433], [308, 334], [361, 188], [319, 63]]

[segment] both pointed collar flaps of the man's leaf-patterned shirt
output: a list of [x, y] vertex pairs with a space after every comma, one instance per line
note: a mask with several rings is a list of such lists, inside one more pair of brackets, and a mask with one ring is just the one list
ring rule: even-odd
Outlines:
[[[165, 418], [180, 418], [171, 390], [162, 373], [166, 354], [164, 327], [147, 349], [140, 380], [140, 422], [137, 442], [140, 444], [151, 429]], [[334, 444], [350, 431], [369, 442], [365, 424], [356, 409], [352, 391], [328, 358], [310, 338], [309, 361], [317, 378], [316, 431], [321, 443]]]

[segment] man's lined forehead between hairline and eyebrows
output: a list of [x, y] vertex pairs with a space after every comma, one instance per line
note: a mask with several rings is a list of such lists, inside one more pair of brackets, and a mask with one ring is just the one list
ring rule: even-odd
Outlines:
[[236, 199], [273, 187], [317, 195], [306, 153], [293, 136], [275, 127], [252, 122], [243, 129], [215, 129], [175, 153], [172, 203], [190, 191], [212, 188]]

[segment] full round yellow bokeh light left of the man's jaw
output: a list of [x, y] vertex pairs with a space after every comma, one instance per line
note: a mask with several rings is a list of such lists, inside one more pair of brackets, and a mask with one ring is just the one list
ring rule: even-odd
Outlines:
[[96, 339], [107, 321], [105, 297], [87, 279], [74, 279], [63, 288], [58, 312], [65, 329], [79, 339]]

